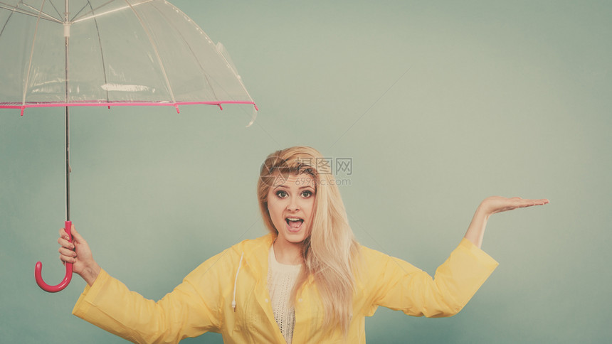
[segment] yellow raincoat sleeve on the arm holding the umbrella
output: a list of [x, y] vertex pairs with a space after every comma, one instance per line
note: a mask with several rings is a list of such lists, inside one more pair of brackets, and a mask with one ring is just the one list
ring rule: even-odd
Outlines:
[[[127, 289], [102, 270], [86, 286], [73, 314], [134, 343], [178, 343], [221, 328], [228, 254], [206, 260], [183, 282], [155, 302]], [[226, 288], [225, 288], [226, 289]]]

